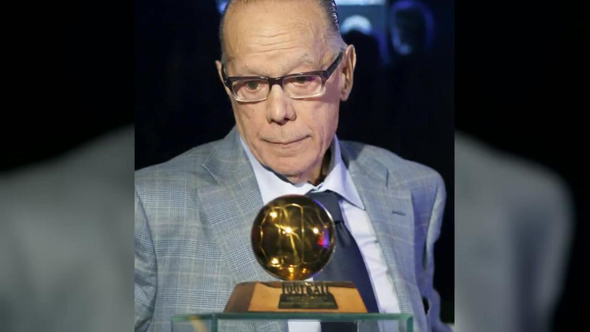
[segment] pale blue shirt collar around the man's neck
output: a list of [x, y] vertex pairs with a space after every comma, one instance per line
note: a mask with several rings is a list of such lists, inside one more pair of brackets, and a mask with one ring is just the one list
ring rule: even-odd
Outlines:
[[248, 145], [245, 144], [241, 136], [240, 143], [242, 144], [242, 148], [244, 148], [244, 151], [248, 156], [248, 161], [250, 161], [250, 164], [254, 170], [254, 175], [256, 177], [256, 181], [258, 182], [258, 188], [260, 189], [260, 194], [264, 204], [267, 204], [274, 198], [283, 195], [304, 195], [309, 191], [321, 192], [332, 190], [342, 196], [350, 204], [359, 207], [359, 209], [365, 209], [365, 206], [360, 200], [360, 196], [356, 190], [355, 184], [352, 182], [352, 177], [350, 177], [350, 174], [346, 169], [346, 165], [342, 161], [342, 155], [340, 155], [340, 144], [336, 135], [334, 135], [334, 139], [330, 145], [332, 157], [330, 160], [329, 172], [326, 175], [324, 181], [318, 185], [313, 185], [308, 182], [298, 184], [290, 183], [285, 178], [280, 177], [275, 172], [270, 170], [270, 168], [261, 164], [260, 161], [254, 157], [250, 151], [250, 148], [248, 148]]

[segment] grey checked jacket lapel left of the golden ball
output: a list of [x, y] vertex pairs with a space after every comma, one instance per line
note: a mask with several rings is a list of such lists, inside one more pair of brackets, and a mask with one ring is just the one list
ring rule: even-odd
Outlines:
[[[254, 172], [234, 127], [202, 166], [215, 179], [198, 189], [209, 228], [235, 283], [276, 281], [258, 264], [251, 246], [254, 218], [263, 207]], [[254, 322], [258, 331], [285, 330], [286, 323]]]

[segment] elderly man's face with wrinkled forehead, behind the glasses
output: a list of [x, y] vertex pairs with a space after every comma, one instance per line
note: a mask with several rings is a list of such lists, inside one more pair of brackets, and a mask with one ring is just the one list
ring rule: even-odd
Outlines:
[[[225, 73], [278, 77], [325, 70], [339, 50], [326, 38], [324, 24], [313, 1], [238, 4], [226, 17]], [[348, 96], [345, 66], [346, 57], [320, 97], [292, 99], [274, 85], [266, 100], [245, 103], [226, 88], [238, 131], [258, 161], [294, 183], [317, 177], [336, 132], [340, 99]]]

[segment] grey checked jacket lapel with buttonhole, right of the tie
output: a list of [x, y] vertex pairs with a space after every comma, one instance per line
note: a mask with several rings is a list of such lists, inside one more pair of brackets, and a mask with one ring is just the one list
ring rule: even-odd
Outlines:
[[366, 213], [375, 229], [379, 246], [394, 282], [402, 313], [414, 315], [416, 331], [425, 327], [421, 295], [415, 278], [414, 209], [411, 191], [390, 188], [389, 172], [379, 161], [352, 154], [342, 147], [348, 167]]

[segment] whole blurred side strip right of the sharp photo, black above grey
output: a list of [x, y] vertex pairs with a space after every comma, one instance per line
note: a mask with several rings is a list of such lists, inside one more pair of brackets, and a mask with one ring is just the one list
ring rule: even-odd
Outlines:
[[457, 331], [584, 329], [582, 12], [571, 2], [457, 6]]

